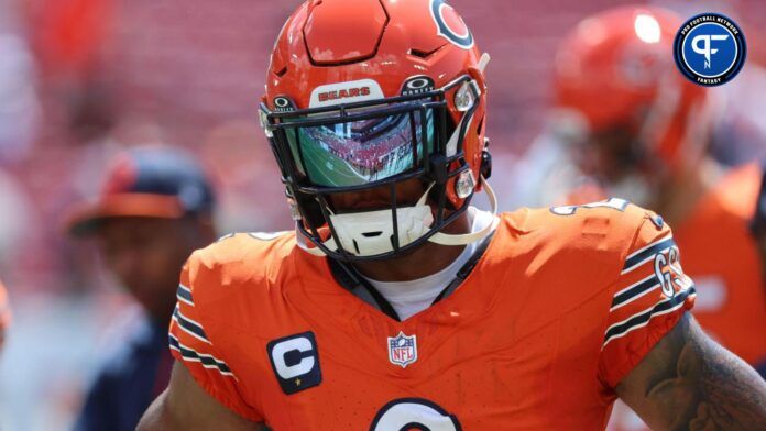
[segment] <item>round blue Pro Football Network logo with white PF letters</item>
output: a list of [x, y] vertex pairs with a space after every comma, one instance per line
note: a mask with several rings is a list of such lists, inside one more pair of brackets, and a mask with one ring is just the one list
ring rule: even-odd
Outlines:
[[719, 13], [703, 13], [683, 23], [674, 42], [676, 65], [694, 84], [714, 87], [742, 70], [747, 56], [742, 29]]

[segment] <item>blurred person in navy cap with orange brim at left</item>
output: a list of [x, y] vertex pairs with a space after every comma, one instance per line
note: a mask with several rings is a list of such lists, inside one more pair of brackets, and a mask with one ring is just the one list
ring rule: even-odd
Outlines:
[[98, 200], [73, 210], [68, 231], [92, 237], [107, 268], [145, 311], [125, 345], [103, 364], [76, 430], [133, 430], [167, 385], [167, 324], [178, 272], [216, 239], [214, 190], [186, 152], [142, 147], [116, 157]]

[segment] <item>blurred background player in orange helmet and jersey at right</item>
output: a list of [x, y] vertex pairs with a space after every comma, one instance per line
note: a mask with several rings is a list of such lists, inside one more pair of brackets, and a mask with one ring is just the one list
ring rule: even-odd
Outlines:
[[[748, 223], [762, 174], [755, 164], [725, 172], [709, 154], [721, 107], [712, 90], [676, 70], [671, 44], [680, 25], [660, 8], [623, 7], [565, 37], [552, 122], [588, 178], [572, 183], [579, 187], [567, 200], [620, 197], [661, 213], [699, 291], [694, 317], [757, 366], [766, 361], [766, 295]], [[623, 415], [616, 407], [615, 417]]]

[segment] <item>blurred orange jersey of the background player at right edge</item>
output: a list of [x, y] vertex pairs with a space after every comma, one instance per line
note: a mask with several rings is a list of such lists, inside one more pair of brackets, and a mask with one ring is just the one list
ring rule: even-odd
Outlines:
[[760, 179], [755, 164], [732, 170], [675, 232], [683, 268], [697, 281], [694, 317], [749, 364], [766, 360], [764, 278], [748, 230]]

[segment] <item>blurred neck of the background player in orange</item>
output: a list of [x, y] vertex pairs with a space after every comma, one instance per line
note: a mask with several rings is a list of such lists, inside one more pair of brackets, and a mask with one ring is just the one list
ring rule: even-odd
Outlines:
[[721, 175], [721, 166], [705, 158], [699, 167], [690, 169], [663, 189], [655, 206], [657, 212], [671, 226], [679, 226], [692, 216], [700, 199], [713, 188]]

